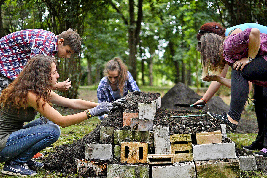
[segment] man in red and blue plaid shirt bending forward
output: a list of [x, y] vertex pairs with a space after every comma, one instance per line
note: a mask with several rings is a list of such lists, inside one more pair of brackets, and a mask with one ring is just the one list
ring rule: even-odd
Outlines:
[[[76, 31], [68, 29], [59, 35], [42, 29], [13, 32], [0, 39], [0, 94], [37, 54], [69, 58], [80, 53], [81, 38]], [[71, 87], [69, 79], [58, 82], [55, 90], [66, 91]]]

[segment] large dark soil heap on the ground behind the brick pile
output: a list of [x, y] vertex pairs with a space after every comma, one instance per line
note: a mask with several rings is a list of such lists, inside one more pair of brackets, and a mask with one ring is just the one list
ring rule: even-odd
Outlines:
[[[161, 108], [180, 111], [198, 111], [198, 109], [193, 107], [184, 108], [174, 106], [174, 104], [193, 104], [201, 98], [202, 96], [198, 95], [184, 83], [177, 83], [161, 98]], [[220, 97], [213, 96], [202, 110], [221, 114], [222, 111], [227, 113], [229, 111], [229, 106], [225, 104]]]

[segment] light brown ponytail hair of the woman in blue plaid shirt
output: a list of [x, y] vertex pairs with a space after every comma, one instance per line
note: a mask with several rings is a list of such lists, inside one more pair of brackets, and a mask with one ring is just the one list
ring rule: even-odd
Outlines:
[[125, 81], [128, 80], [128, 74], [127, 74], [127, 66], [123, 61], [121, 61], [120, 58], [113, 58], [110, 60], [103, 71], [104, 76], [107, 76], [109, 71], [119, 71], [119, 77], [118, 77], [118, 82], [119, 82], [119, 90], [120, 90], [120, 96], [123, 97], [123, 88], [125, 88]]

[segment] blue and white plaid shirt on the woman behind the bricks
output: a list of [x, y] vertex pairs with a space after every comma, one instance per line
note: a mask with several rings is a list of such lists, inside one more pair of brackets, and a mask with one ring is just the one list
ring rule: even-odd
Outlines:
[[[128, 94], [128, 90], [130, 92], [140, 91], [131, 73], [127, 71], [127, 74], [128, 74], [128, 80], [125, 81], [124, 85], [125, 87], [123, 88], [123, 97]], [[109, 80], [107, 77], [103, 77], [98, 85], [97, 98], [98, 98], [98, 103], [102, 101], [109, 101], [110, 103], [112, 103], [113, 101], [115, 101], [113, 91], [111, 89], [111, 86], [109, 85]], [[104, 115], [99, 116], [99, 119], [103, 120]]]

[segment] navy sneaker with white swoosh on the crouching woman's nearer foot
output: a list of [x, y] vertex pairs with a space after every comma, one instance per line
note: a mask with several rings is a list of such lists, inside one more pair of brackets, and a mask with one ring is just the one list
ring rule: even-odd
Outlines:
[[37, 173], [28, 168], [26, 164], [9, 164], [5, 163], [2, 171], [3, 174], [12, 175], [12, 176], [34, 176]]

